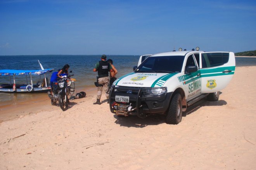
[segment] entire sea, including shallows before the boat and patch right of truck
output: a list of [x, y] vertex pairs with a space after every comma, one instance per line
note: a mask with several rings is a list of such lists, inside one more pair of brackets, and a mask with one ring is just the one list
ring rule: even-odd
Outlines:
[[[93, 68], [97, 61], [100, 61], [101, 55], [21, 55], [21, 56], [0, 56], [0, 70], [38, 70], [40, 66], [43, 68], [54, 68], [58, 71], [65, 64], [70, 66], [73, 78], [76, 79], [75, 86], [78, 89], [86, 89], [95, 87], [97, 72], [93, 72]], [[139, 55], [107, 55], [107, 59], [112, 59], [113, 65], [118, 70], [117, 77], [121, 77], [133, 71], [133, 66], [137, 66]], [[236, 57], [236, 66], [256, 66], [256, 58]], [[51, 73], [47, 73], [50, 81]], [[42, 80], [44, 76], [33, 76], [33, 82]], [[13, 82], [13, 78], [11, 79]], [[1, 83], [9, 83], [9, 76], [0, 76]], [[16, 76], [16, 83], [26, 83], [24, 76]], [[96, 88], [96, 87], [95, 87]], [[26, 102], [33, 100], [35, 97], [45, 97], [46, 93], [3, 93], [0, 92], [0, 107], [5, 104], [17, 103], [19, 101]]]

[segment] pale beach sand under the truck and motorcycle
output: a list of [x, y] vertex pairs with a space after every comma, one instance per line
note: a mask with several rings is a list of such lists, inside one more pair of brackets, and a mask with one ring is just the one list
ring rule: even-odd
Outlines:
[[104, 93], [93, 105], [96, 87], [64, 112], [47, 95], [2, 107], [0, 169], [256, 169], [255, 73], [236, 68], [219, 101], [197, 102], [178, 125], [157, 115], [117, 117]]

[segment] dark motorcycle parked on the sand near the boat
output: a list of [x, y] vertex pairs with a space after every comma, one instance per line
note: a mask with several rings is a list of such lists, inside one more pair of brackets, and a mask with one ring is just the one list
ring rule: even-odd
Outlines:
[[[72, 71], [70, 71], [70, 73], [72, 73]], [[58, 101], [63, 111], [68, 109], [68, 104], [69, 104], [68, 95], [73, 97], [73, 95], [76, 93], [76, 89], [74, 86], [75, 79], [72, 79], [71, 76], [73, 75], [68, 74], [68, 75], [62, 76], [61, 80], [59, 80], [59, 82], [54, 82], [52, 87], [53, 95], [51, 97], [51, 103], [52, 105], [56, 105]]]

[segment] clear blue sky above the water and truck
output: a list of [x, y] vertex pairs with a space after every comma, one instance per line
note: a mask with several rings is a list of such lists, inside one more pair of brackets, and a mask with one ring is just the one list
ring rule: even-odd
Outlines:
[[0, 55], [256, 50], [255, 0], [0, 0]]

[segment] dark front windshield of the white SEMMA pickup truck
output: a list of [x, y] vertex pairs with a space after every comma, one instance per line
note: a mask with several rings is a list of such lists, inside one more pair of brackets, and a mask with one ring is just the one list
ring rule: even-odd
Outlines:
[[180, 73], [185, 56], [158, 56], [147, 58], [136, 73]]

